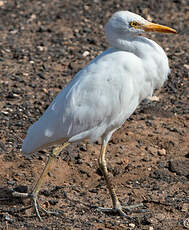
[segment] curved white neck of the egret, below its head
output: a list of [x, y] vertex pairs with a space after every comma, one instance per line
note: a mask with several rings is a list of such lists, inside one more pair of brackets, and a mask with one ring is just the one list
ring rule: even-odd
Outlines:
[[[106, 38], [111, 47], [133, 53], [140, 59], [146, 60], [143, 61], [143, 65], [148, 73], [147, 76], [151, 71], [152, 85], [154, 88], [162, 86], [170, 70], [167, 56], [156, 42], [137, 34], [117, 34], [110, 30], [106, 31]], [[151, 65], [153, 65], [153, 69]]]

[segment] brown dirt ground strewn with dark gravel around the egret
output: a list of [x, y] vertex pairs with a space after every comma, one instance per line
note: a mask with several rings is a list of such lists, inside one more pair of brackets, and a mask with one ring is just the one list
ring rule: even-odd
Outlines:
[[[167, 52], [171, 74], [112, 137], [108, 170], [124, 204], [143, 203], [130, 219], [99, 212], [111, 199], [98, 169], [100, 145], [74, 144], [55, 160], [40, 191], [40, 222], [31, 191], [50, 149], [25, 158], [22, 141], [75, 73], [104, 51], [103, 25], [130, 10], [170, 26], [177, 35], [149, 34]], [[189, 229], [189, 4], [187, 0], [0, 1], [0, 229]]]

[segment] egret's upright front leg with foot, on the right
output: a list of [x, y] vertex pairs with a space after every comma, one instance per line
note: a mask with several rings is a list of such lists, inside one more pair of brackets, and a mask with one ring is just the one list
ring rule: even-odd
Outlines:
[[98, 209], [101, 211], [105, 211], [105, 212], [119, 213], [121, 216], [128, 217], [122, 210], [121, 204], [120, 204], [118, 197], [115, 193], [111, 178], [108, 174], [108, 170], [107, 170], [107, 166], [106, 166], [106, 160], [105, 160], [105, 154], [106, 154], [106, 144], [102, 144], [101, 151], [100, 151], [100, 157], [99, 157], [99, 167], [102, 171], [102, 174], [103, 174], [105, 181], [106, 181], [107, 188], [110, 192], [113, 208], [101, 208], [100, 207]]

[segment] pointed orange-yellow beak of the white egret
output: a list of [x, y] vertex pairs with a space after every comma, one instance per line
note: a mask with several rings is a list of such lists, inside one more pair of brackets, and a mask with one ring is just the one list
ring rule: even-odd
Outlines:
[[176, 30], [167, 27], [167, 26], [162, 26], [159, 24], [155, 23], [147, 23], [145, 25], [142, 25], [143, 30], [148, 31], [148, 32], [159, 32], [159, 33], [177, 33]]

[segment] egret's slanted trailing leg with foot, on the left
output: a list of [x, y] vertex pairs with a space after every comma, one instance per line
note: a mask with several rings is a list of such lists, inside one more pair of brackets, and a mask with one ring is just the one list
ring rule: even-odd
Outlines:
[[66, 142], [66, 143], [64, 143], [64, 145], [58, 146], [58, 147], [56, 147], [56, 148], [53, 149], [53, 152], [49, 156], [48, 162], [47, 162], [47, 164], [46, 164], [43, 172], [41, 173], [41, 176], [40, 176], [39, 180], [37, 181], [37, 183], [36, 183], [36, 185], [35, 185], [35, 187], [34, 187], [34, 189], [32, 191], [31, 197], [33, 199], [34, 209], [35, 209], [35, 212], [36, 212], [36, 214], [37, 214], [37, 216], [38, 216], [38, 218], [40, 220], [42, 220], [42, 219], [41, 219], [41, 216], [39, 214], [38, 208], [40, 208], [42, 211], [46, 212], [47, 214], [55, 214], [55, 212], [50, 212], [50, 211], [47, 211], [44, 208], [42, 208], [40, 206], [38, 200], [37, 200], [37, 196], [38, 196], [39, 190], [41, 188], [42, 182], [43, 182], [44, 178], [46, 177], [47, 173], [49, 172], [49, 169], [50, 169], [50, 166], [52, 165], [53, 160], [69, 144], [70, 144], [69, 142]]

